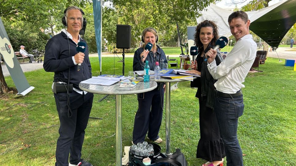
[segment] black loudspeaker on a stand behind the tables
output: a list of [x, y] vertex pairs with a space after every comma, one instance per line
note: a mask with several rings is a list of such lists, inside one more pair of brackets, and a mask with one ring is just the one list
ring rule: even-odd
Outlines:
[[124, 76], [124, 49], [130, 48], [132, 27], [130, 25], [116, 25], [116, 48], [122, 48], [122, 75]]

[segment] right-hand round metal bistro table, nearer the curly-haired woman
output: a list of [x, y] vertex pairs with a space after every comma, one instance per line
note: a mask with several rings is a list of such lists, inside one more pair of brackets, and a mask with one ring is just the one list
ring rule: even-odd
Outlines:
[[152, 79], [159, 83], [166, 83], [166, 154], [170, 153], [170, 83], [187, 81], [184, 79]]

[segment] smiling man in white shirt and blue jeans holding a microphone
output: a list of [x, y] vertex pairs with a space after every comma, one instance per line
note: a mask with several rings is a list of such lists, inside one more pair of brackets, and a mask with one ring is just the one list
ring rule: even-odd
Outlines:
[[237, 138], [238, 118], [244, 111], [241, 88], [256, 57], [257, 44], [249, 34], [250, 20], [243, 11], [230, 14], [228, 24], [236, 44], [220, 65], [216, 66], [216, 50], [209, 50], [208, 69], [214, 79], [217, 98], [216, 113], [223, 138], [227, 166], [242, 166], [242, 149]]

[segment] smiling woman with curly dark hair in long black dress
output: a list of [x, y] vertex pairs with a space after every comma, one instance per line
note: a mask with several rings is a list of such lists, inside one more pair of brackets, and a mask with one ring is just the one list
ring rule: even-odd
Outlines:
[[[204, 54], [215, 47], [218, 38], [217, 25], [213, 21], [205, 20], [197, 25], [194, 40], [199, 53], [195, 62], [191, 61], [192, 70], [187, 71], [200, 75], [194, 81], [194, 86], [198, 88], [195, 96], [199, 100], [200, 120], [200, 140], [197, 145], [196, 157], [209, 161], [203, 166], [223, 166], [223, 158], [225, 157], [224, 144], [214, 113], [214, 83], [217, 80], [213, 79], [208, 71], [208, 61], [204, 61], [206, 58]], [[215, 61], [217, 65], [223, 61], [219, 51]]]

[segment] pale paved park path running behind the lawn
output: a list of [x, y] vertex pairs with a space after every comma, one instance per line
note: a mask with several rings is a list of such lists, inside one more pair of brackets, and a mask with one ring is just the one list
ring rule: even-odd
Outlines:
[[[285, 59], [296, 59], [296, 51], [289, 51], [292, 50], [290, 47], [279, 47], [276, 52], [279, 55], [279, 58], [284, 62]], [[278, 55], [276, 52], [268, 52], [268, 57], [273, 57], [273, 58], [278, 58]], [[122, 57], [121, 53], [117, 53], [118, 57]], [[89, 55], [90, 57], [98, 57], [98, 53], [93, 53]], [[102, 53], [102, 57], [113, 57], [114, 54], [109, 54], [109, 53]], [[179, 57], [179, 55], [169, 55], [170, 57]], [[116, 57], [116, 55], [115, 55]], [[133, 55], [125, 55], [125, 57], [133, 57]], [[179, 62], [179, 61], [178, 61]], [[37, 70], [40, 68], [43, 68], [43, 62], [42, 63], [21, 63], [21, 68], [23, 69], [23, 72], [28, 72], [28, 71], [33, 71]], [[3, 75], [4, 76], [10, 76], [6, 65], [1, 65]]]

